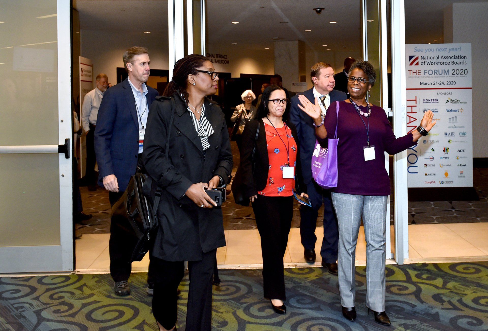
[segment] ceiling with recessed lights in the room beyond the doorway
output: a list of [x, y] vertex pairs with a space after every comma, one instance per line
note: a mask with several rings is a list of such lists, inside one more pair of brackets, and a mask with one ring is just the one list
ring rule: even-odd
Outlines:
[[[405, 0], [406, 42], [443, 42], [443, 9], [447, 5], [487, 1]], [[206, 0], [207, 44], [236, 42], [245, 48], [263, 49], [272, 47], [272, 37], [279, 37], [303, 40], [309, 48], [320, 51], [359, 50], [360, 3], [361, 0]], [[81, 29], [126, 34], [151, 31], [167, 36], [167, 0], [74, 0], [73, 5], [80, 13]], [[312, 10], [315, 7], [325, 10], [317, 15]], [[332, 20], [337, 23], [330, 24]], [[240, 23], [231, 24], [232, 21]]]

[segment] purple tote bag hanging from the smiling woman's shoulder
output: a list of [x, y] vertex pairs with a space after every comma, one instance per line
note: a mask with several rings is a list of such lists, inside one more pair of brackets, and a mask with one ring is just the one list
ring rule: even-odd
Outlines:
[[[339, 123], [339, 102], [336, 105], [337, 122]], [[315, 141], [315, 149], [312, 154], [312, 177], [323, 188], [337, 187], [337, 124], [334, 139], [327, 140], [327, 148], [320, 146]]]

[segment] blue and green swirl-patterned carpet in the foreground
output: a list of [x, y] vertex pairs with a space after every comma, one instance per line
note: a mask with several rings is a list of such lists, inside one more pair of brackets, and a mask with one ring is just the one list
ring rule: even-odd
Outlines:
[[[366, 315], [365, 267], [356, 268], [356, 310], [340, 311], [337, 277], [320, 268], [286, 269], [285, 315], [263, 298], [260, 270], [222, 270], [214, 288], [212, 330], [386, 330]], [[157, 330], [146, 274], [132, 274], [132, 294], [118, 297], [109, 275], [0, 278], [0, 330]], [[180, 285], [178, 330], [184, 329], [188, 277]], [[488, 330], [488, 262], [386, 266], [389, 330]]]

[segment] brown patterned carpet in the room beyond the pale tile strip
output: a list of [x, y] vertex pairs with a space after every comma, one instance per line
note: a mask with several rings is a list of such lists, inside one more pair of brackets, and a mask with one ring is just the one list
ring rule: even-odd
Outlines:
[[[235, 142], [231, 143], [234, 157], [233, 174], [239, 165], [239, 151]], [[488, 221], [488, 168], [474, 168], [474, 186], [479, 201], [435, 201], [435, 202], [408, 202], [409, 224], [430, 223], [462, 223], [462, 222], [487, 222]], [[96, 191], [88, 191], [86, 187], [80, 187], [81, 199], [85, 214], [92, 214], [88, 221], [77, 224], [76, 228], [81, 234], [85, 233], [109, 233], [110, 231], [110, 204], [108, 193], [102, 187], [97, 186]], [[393, 219], [393, 203], [390, 205], [390, 217]], [[256, 221], [252, 208], [243, 207], [234, 203], [232, 194], [227, 196], [227, 201], [222, 206], [224, 214], [225, 230], [256, 229]], [[319, 210], [317, 226], [322, 226], [324, 208]], [[291, 227], [300, 227], [300, 213], [298, 202], [295, 202], [293, 221]]]

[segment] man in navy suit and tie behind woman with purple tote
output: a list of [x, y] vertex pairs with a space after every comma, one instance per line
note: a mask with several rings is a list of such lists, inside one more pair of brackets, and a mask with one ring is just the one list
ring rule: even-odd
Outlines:
[[[322, 118], [331, 102], [346, 100], [346, 93], [334, 90], [334, 69], [324, 62], [316, 63], [310, 70], [313, 88], [303, 92], [308, 100], [317, 102], [322, 110]], [[307, 262], [314, 262], [315, 255], [315, 228], [317, 225], [318, 210], [324, 203], [324, 240], [320, 255], [322, 266], [332, 275], [337, 275], [337, 242], [339, 231], [337, 217], [332, 206], [330, 191], [320, 187], [312, 178], [312, 153], [315, 148], [315, 127], [313, 120], [305, 112], [300, 110], [297, 104], [298, 95], [291, 98], [290, 121], [297, 127], [298, 140], [300, 142], [300, 161], [302, 163], [302, 175], [312, 207], [300, 206], [300, 236], [305, 248], [304, 257]]]

